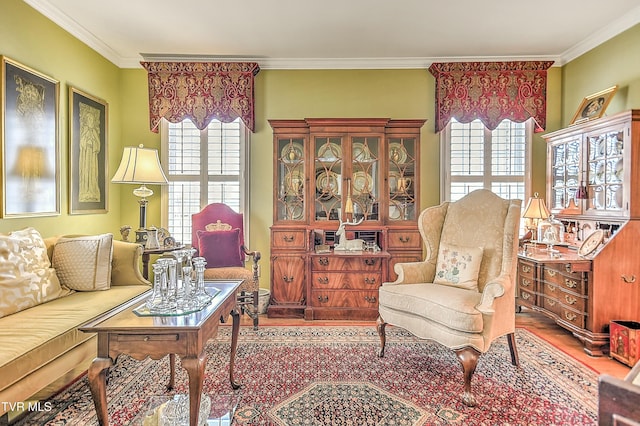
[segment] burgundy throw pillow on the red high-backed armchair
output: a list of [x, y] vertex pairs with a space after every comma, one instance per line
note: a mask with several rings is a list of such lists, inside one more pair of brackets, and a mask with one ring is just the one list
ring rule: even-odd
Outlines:
[[200, 256], [207, 259], [207, 268], [242, 266], [240, 228], [229, 231], [197, 231]]

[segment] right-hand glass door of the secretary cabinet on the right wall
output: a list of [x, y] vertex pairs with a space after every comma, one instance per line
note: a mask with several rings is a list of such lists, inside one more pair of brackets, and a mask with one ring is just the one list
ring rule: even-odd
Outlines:
[[624, 206], [624, 132], [587, 137], [588, 212], [620, 212]]

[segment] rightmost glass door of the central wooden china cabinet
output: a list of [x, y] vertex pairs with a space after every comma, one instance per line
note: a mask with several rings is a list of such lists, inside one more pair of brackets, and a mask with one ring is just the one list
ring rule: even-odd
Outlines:
[[415, 220], [415, 138], [390, 138], [389, 155], [389, 221]]

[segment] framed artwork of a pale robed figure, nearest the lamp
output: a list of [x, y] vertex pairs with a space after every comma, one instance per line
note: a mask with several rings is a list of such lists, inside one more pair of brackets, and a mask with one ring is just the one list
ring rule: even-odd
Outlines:
[[108, 109], [69, 87], [69, 214], [107, 212]]

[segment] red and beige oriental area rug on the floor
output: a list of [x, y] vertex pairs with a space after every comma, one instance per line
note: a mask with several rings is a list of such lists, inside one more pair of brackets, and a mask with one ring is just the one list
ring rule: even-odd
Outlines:
[[[215, 425], [593, 425], [598, 374], [526, 329], [517, 329], [520, 367], [506, 338], [480, 357], [472, 388], [478, 406], [460, 400], [462, 369], [454, 353], [387, 327], [385, 356], [371, 326], [242, 327], [234, 391], [229, 383], [230, 327], [207, 347], [204, 393], [231, 423]], [[178, 361], [179, 363], [179, 361]], [[149, 401], [188, 393], [177, 366], [167, 392], [169, 361], [121, 356], [109, 371], [111, 425], [142, 424]], [[218, 402], [216, 402], [218, 401]], [[86, 376], [29, 413], [20, 425], [95, 425]]]

